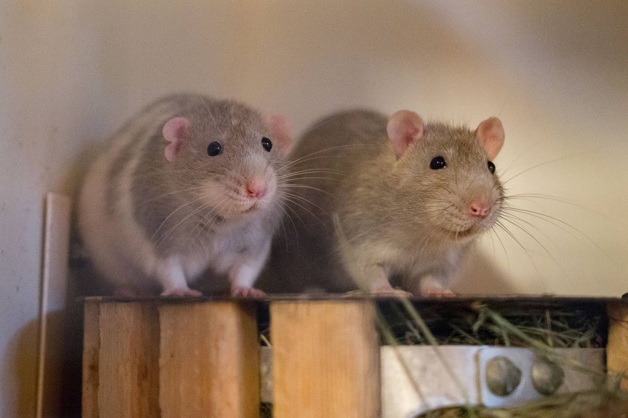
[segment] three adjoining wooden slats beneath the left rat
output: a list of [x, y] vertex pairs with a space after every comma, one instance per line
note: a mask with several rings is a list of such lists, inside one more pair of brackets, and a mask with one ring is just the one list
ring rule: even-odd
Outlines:
[[83, 416], [259, 416], [254, 303], [85, 302]]

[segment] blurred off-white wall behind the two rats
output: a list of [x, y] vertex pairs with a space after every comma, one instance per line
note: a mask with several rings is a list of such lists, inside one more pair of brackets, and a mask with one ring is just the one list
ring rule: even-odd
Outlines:
[[90, 148], [173, 90], [280, 110], [298, 130], [355, 105], [499, 115], [504, 178], [548, 163], [511, 193], [575, 203], [513, 204], [580, 232], [529, 217], [549, 254], [511, 226], [528, 251], [501, 233], [507, 257], [487, 237], [460, 290], [628, 291], [626, 21], [623, 0], [0, 0], [0, 416], [34, 409], [44, 193], [72, 193]]

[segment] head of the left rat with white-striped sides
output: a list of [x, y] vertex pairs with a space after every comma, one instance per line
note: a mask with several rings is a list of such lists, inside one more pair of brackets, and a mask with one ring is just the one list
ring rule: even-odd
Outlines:
[[222, 218], [238, 218], [276, 200], [277, 170], [292, 143], [283, 116], [263, 117], [229, 100], [200, 104], [163, 126], [175, 188]]

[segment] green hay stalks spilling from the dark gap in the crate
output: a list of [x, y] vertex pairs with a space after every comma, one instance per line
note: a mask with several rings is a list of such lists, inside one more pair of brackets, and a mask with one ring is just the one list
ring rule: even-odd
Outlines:
[[[382, 305], [381, 305], [382, 306]], [[401, 309], [403, 308], [403, 309]], [[530, 348], [548, 360], [578, 372], [596, 377], [598, 387], [590, 392], [555, 394], [525, 405], [509, 408], [487, 408], [464, 405], [426, 412], [417, 418], [581, 418], [587, 411], [608, 402], [628, 402], [628, 394], [619, 388], [620, 378], [590, 370], [577, 360], [566, 358], [556, 348], [597, 348], [604, 340], [600, 314], [568, 308], [501, 308], [499, 311], [484, 303], [443, 308], [423, 306], [421, 314], [408, 299], [384, 304], [377, 309], [377, 328], [384, 345], [431, 345], [458, 389], [465, 394], [464, 385], [440, 353], [439, 345], [496, 345]], [[270, 345], [264, 333], [264, 345]], [[395, 350], [397, 351], [397, 350]], [[411, 376], [403, 356], [398, 355], [408, 377]], [[413, 388], [420, 397], [419, 385]], [[468, 399], [468, 396], [467, 396]], [[468, 403], [468, 401], [467, 401]], [[272, 417], [272, 404], [261, 405], [261, 418]], [[609, 415], [610, 416], [610, 415]]]

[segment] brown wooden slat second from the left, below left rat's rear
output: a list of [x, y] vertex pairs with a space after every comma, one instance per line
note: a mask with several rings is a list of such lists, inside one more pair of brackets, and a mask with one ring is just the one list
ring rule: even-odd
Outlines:
[[147, 303], [100, 304], [100, 418], [158, 418], [159, 318]]

